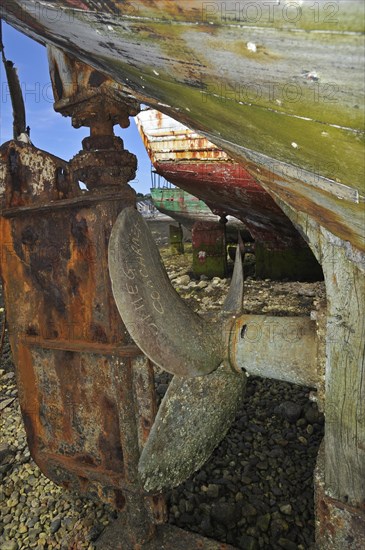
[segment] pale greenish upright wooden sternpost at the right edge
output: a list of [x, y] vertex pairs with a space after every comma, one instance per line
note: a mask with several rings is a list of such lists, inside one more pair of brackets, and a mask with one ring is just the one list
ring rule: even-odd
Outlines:
[[[279, 201], [280, 202], [280, 201]], [[365, 258], [304, 212], [281, 202], [321, 263], [327, 293], [325, 490], [365, 500]]]

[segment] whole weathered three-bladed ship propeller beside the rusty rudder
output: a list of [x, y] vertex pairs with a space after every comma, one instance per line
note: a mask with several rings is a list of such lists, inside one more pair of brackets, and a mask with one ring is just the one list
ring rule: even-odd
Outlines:
[[224, 438], [246, 376], [223, 363], [226, 316], [240, 313], [243, 274], [237, 247], [233, 290], [219, 322], [194, 313], [172, 287], [151, 232], [134, 208], [119, 214], [109, 241], [109, 273], [119, 313], [141, 350], [175, 374], [139, 461], [148, 491], [180, 484]]

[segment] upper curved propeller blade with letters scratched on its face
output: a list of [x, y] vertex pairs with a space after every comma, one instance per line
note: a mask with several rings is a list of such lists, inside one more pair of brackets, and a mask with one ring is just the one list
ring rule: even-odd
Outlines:
[[125, 208], [109, 241], [109, 273], [123, 322], [138, 347], [179, 376], [215, 370], [224, 355], [222, 322], [208, 323], [172, 287], [142, 216]]

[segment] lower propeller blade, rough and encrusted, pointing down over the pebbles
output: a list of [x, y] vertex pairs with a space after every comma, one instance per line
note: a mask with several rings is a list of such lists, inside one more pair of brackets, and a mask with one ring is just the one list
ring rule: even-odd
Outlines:
[[175, 376], [160, 405], [138, 470], [146, 491], [179, 485], [210, 457], [241, 403], [246, 375], [224, 365], [208, 376]]

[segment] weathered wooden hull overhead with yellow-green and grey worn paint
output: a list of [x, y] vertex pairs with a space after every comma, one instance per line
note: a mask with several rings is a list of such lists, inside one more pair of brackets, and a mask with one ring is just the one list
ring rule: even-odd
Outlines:
[[363, 3], [2, 4], [12, 25], [194, 127], [274, 198], [365, 250]]

